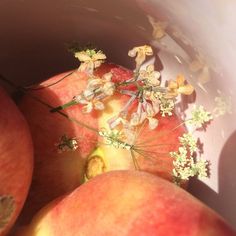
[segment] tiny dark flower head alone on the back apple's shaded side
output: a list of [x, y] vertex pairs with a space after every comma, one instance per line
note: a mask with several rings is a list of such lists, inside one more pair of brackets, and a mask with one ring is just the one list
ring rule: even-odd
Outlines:
[[69, 138], [67, 135], [63, 135], [59, 143], [56, 143], [55, 146], [57, 146], [59, 153], [65, 151], [75, 151], [78, 148], [78, 140], [76, 138]]

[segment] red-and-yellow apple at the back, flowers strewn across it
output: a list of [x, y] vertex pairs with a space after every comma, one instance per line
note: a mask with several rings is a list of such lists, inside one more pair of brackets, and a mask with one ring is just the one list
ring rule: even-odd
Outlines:
[[[133, 74], [121, 66], [105, 63], [96, 69], [95, 75], [102, 77], [108, 72], [112, 72], [113, 82], [126, 81]], [[35, 96], [51, 107], [57, 107], [80, 94], [85, 89], [87, 80], [88, 74], [78, 70], [60, 74], [41, 83], [38, 89], [29, 90], [30, 94], [26, 94], [19, 101], [19, 108], [30, 126], [35, 149], [33, 184], [21, 217], [24, 223], [29, 221], [43, 205], [79, 186], [84, 176], [91, 178], [104, 171], [134, 169], [129, 151], [101, 144], [103, 140], [98, 137], [98, 133], [65, 119], [61, 114], [49, 112], [50, 107], [32, 98]], [[106, 109], [102, 112], [92, 111], [84, 114], [82, 106], [78, 104], [62, 112], [95, 130], [100, 130], [107, 127], [107, 119], [116, 115], [128, 98], [127, 95], [120, 94], [112, 96], [106, 101]], [[150, 131], [145, 125], [142, 133], [137, 136], [136, 141], [140, 143], [140, 148], [144, 149], [145, 157], [135, 153], [135, 158], [141, 170], [172, 180], [173, 164], [168, 153], [178, 149], [178, 137], [185, 129], [180, 126], [174, 132], [168, 132], [181, 123], [175, 115], [172, 117], [159, 115], [158, 119], [158, 128]], [[78, 138], [78, 149], [58, 153], [55, 143], [63, 135]], [[151, 160], [146, 158], [147, 156], [152, 156]]]

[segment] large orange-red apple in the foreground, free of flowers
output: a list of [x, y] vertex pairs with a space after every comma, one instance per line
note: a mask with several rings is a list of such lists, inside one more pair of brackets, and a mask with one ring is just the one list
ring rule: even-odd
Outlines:
[[233, 236], [227, 223], [192, 195], [155, 175], [111, 171], [61, 197], [24, 236]]

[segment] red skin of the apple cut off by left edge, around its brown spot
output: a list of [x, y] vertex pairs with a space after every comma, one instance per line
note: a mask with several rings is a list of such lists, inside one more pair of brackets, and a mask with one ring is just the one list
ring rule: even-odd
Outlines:
[[[33, 172], [33, 144], [28, 125], [11, 98], [0, 88], [0, 197], [11, 196], [13, 211], [0, 235], [6, 235], [28, 194]], [[3, 207], [3, 208], [2, 208]], [[1, 212], [0, 212], [0, 222]], [[1, 224], [0, 224], [1, 225]]]

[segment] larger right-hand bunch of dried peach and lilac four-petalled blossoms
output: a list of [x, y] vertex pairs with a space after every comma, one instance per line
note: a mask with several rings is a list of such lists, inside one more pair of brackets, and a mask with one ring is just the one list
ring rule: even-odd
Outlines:
[[[129, 51], [128, 55], [136, 57], [134, 78], [129, 83], [135, 84], [137, 91], [120, 90], [121, 93], [130, 96], [130, 99], [122, 111], [109, 120], [110, 128], [115, 128], [121, 123], [126, 127], [127, 124], [134, 127], [148, 120], [149, 128], [155, 129], [158, 126], [156, 115], [161, 112], [162, 116], [171, 116], [175, 97], [179, 94], [190, 95], [194, 88], [192, 85], [186, 84], [186, 80], [182, 75], [179, 75], [176, 81], [171, 80], [167, 87], [162, 87], [159, 80], [160, 72], [155, 71], [153, 64], [140, 69], [146, 56], [153, 55], [150, 46], [135, 47]], [[137, 110], [128, 117], [128, 108], [135, 100], [138, 100]]]

